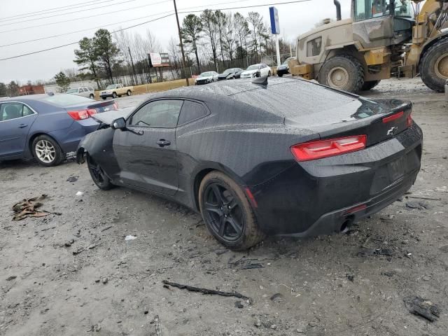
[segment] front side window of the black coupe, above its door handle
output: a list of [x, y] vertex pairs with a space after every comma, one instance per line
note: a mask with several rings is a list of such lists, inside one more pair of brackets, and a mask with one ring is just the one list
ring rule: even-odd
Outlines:
[[182, 104], [182, 100], [150, 102], [132, 115], [129, 124], [143, 127], [176, 127]]

